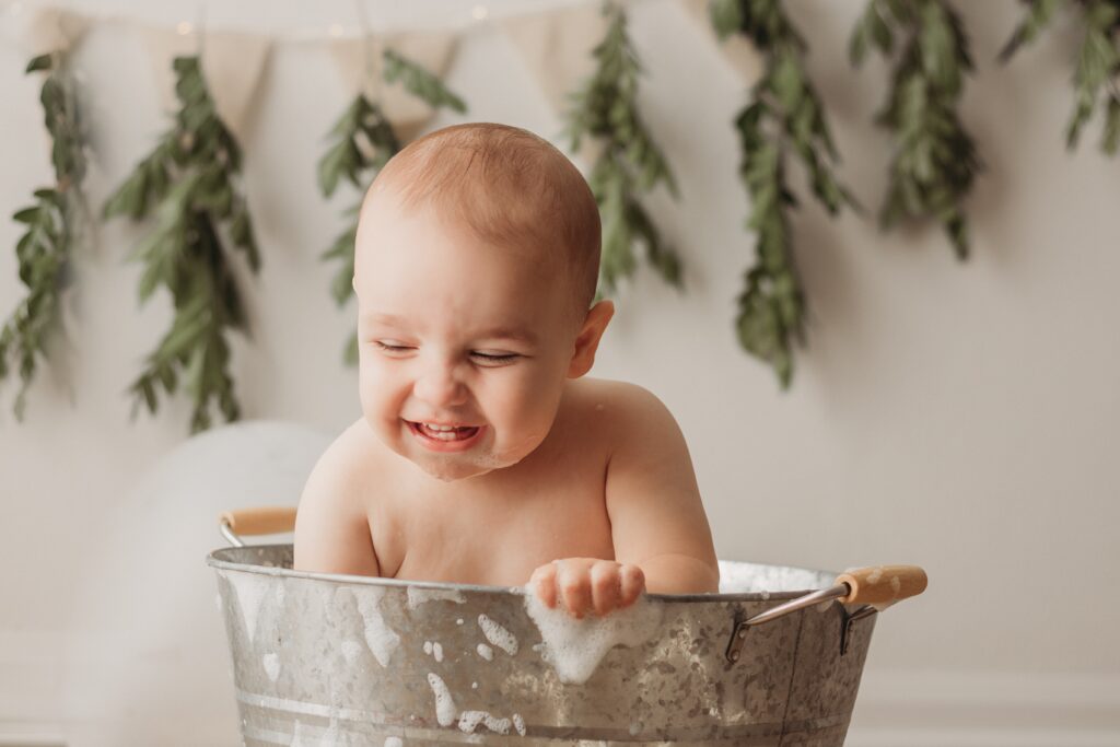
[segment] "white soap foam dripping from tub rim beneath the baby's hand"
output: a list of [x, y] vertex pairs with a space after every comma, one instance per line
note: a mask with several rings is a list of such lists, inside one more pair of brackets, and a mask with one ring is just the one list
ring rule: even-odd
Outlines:
[[661, 627], [662, 609], [644, 597], [605, 617], [576, 619], [557, 607], [549, 609], [536, 595], [525, 595], [525, 610], [541, 632], [541, 656], [552, 664], [560, 681], [582, 684], [615, 646], [634, 647]]

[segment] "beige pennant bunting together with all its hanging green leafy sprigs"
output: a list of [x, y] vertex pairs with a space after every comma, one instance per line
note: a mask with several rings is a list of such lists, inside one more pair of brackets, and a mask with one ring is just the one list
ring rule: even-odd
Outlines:
[[[755, 259], [744, 276], [736, 330], [741, 347], [791, 384], [796, 349], [805, 344], [808, 299], [794, 252], [797, 189], [790, 169], [803, 170], [812, 195], [836, 215], [864, 209], [837, 178], [840, 155], [824, 108], [805, 66], [808, 45], [780, 0], [678, 0], [696, 28], [718, 45], [749, 88], [734, 122], [739, 176], [749, 195], [746, 227]], [[1073, 71], [1074, 108], [1066, 144], [1103, 110], [1101, 148], [1120, 149], [1120, 0], [1024, 0], [1020, 22], [1000, 54], [1007, 62], [1034, 43], [1065, 9], [1083, 29]], [[362, 9], [361, 1], [358, 2]], [[683, 288], [679, 253], [663, 241], [643, 196], [663, 185], [678, 195], [669, 160], [637, 105], [643, 71], [627, 32], [627, 3], [566, 4], [494, 19], [554, 112], [566, 122], [571, 152], [589, 166], [603, 216], [600, 295], [617, 292], [638, 269], [638, 256], [665, 282]], [[473, 9], [476, 19], [486, 9]], [[86, 144], [71, 59], [93, 18], [39, 7], [28, 30], [35, 54], [27, 72], [44, 75], [40, 94], [52, 139], [54, 181], [34, 192], [15, 220], [25, 297], [0, 327], [0, 383], [17, 376], [13, 410], [22, 418], [28, 387], [65, 340], [63, 309], [73, 280], [74, 252], [95, 221], [82, 181]], [[131, 24], [142, 35], [172, 124], [104, 205], [104, 218], [123, 216], [150, 227], [130, 253], [143, 265], [139, 296], [166, 291], [174, 304], [170, 328], [147, 356], [130, 386], [137, 407], [157, 411], [180, 389], [193, 401], [192, 430], [215, 414], [240, 415], [230, 370], [228, 335], [245, 333], [245, 292], [236, 264], [255, 274], [261, 256], [241, 184], [241, 146], [251, 102], [272, 44], [284, 37], [207, 30], [188, 22], [175, 29]], [[364, 16], [360, 34], [333, 26], [321, 37], [351, 91], [351, 103], [327, 136], [318, 184], [332, 198], [343, 181], [363, 192], [384, 164], [417, 137], [433, 112], [466, 111], [442, 77], [458, 30], [373, 34]], [[965, 203], [982, 162], [959, 109], [974, 63], [960, 16], [949, 0], [866, 0], [849, 40], [858, 66], [868, 52], [890, 66], [887, 100], [876, 122], [887, 130], [893, 157], [879, 209], [884, 230], [900, 222], [940, 224], [955, 255], [969, 254]], [[330, 292], [339, 305], [353, 295], [356, 208], [323, 253], [337, 265]], [[345, 358], [355, 360], [355, 339]], [[136, 408], [133, 409], [136, 411]]]

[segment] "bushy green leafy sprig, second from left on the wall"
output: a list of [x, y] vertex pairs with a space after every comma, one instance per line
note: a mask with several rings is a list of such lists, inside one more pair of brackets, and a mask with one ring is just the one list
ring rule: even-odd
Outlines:
[[215, 407], [227, 421], [240, 415], [227, 336], [248, 326], [230, 254], [241, 251], [254, 273], [260, 255], [240, 189], [241, 149], [214, 110], [198, 57], [177, 57], [174, 69], [180, 103], [175, 124], [104, 214], [156, 218], [131, 259], [143, 265], [141, 304], [164, 288], [175, 318], [130, 392], [137, 407], [155, 413], [158, 389], [171, 395], [181, 381], [194, 404], [194, 432], [209, 428]]

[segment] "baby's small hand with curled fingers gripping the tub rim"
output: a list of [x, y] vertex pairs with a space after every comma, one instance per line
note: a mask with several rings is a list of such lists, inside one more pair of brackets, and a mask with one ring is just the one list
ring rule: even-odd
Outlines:
[[603, 616], [629, 607], [645, 590], [645, 573], [613, 560], [566, 558], [538, 568], [529, 583], [550, 609], [561, 605], [581, 618], [589, 611]]

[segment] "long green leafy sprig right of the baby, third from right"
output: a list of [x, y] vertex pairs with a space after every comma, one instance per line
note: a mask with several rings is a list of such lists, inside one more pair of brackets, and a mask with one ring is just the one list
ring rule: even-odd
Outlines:
[[752, 103], [736, 118], [743, 147], [739, 176], [750, 195], [747, 227], [756, 236], [736, 326], [744, 349], [765, 361], [787, 387], [794, 345], [805, 338], [805, 295], [788, 218], [797, 206], [786, 178], [790, 153], [804, 164], [813, 195], [830, 214], [856, 203], [832, 174], [839, 157], [802, 63], [805, 43], [780, 3], [715, 0], [709, 11], [720, 38], [741, 34], [765, 58]]

